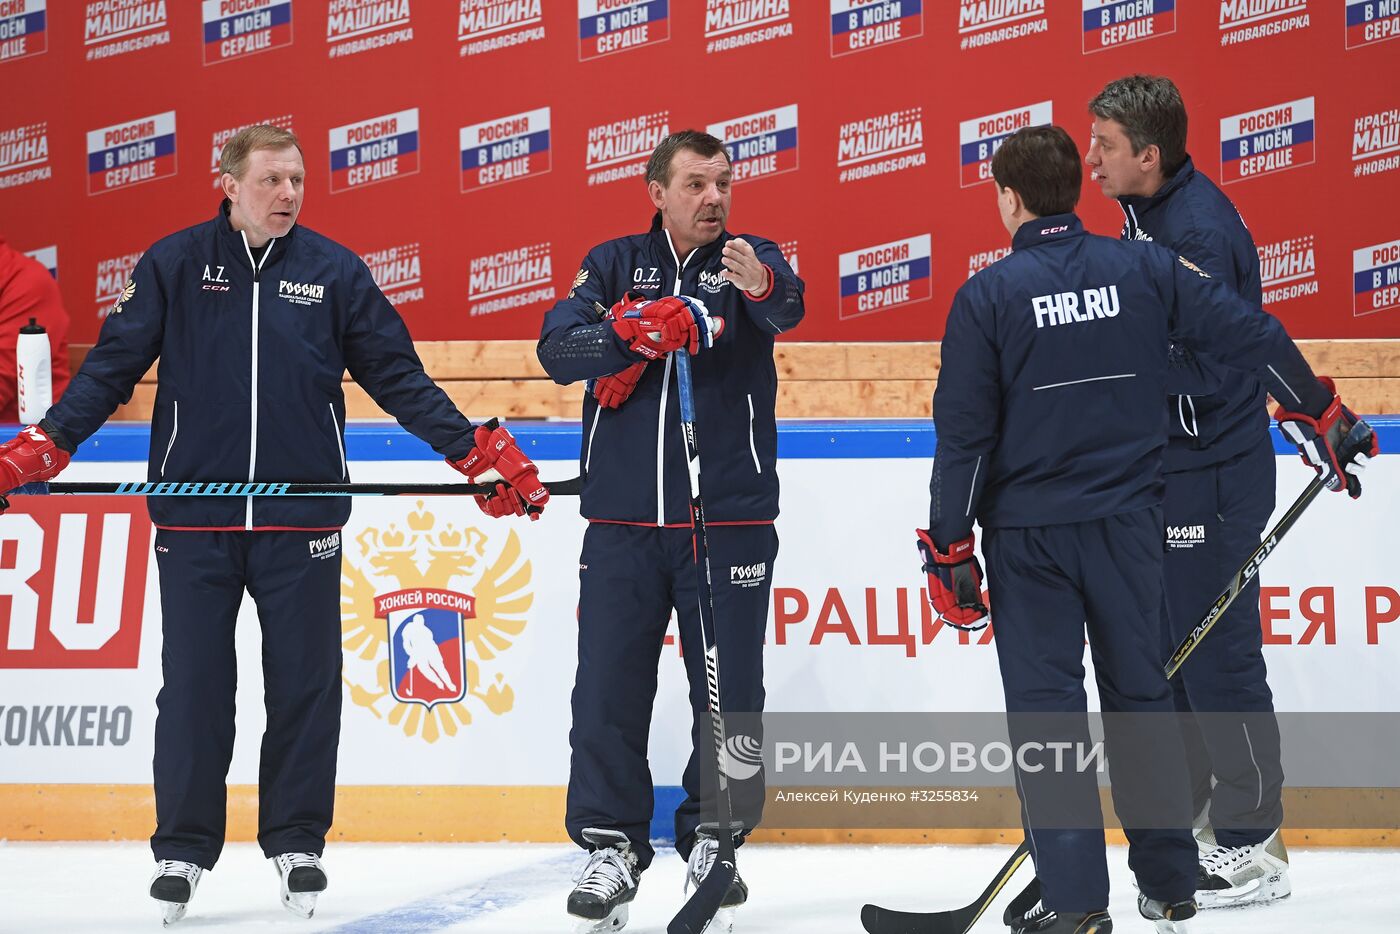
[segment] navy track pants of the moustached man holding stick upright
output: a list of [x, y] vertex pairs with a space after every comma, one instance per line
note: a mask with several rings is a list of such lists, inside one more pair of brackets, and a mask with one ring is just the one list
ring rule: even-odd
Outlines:
[[[763, 636], [778, 539], [773, 525], [708, 527], [720, 647], [720, 704], [725, 714], [763, 710]], [[589, 524], [580, 557], [578, 672], [568, 732], [568, 836], [582, 847], [584, 828], [622, 830], [641, 868], [652, 780], [647, 765], [657, 665], [671, 611], [680, 626], [690, 682], [692, 753], [676, 809], [676, 849], [689, 857], [696, 826], [715, 819], [714, 776], [700, 634], [699, 595], [689, 528]], [[678, 725], [679, 728], [679, 725]], [[762, 737], [755, 737], [762, 742]], [[763, 812], [763, 772], [729, 781], [734, 819], [746, 829]]]

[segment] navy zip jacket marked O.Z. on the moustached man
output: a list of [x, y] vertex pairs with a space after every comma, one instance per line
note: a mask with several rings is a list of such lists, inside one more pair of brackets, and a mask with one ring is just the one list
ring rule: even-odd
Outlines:
[[[620, 372], [644, 363], [612, 325], [605, 309], [627, 291], [648, 298], [692, 295], [724, 318], [714, 347], [692, 367], [700, 487], [710, 522], [762, 522], [778, 514], [777, 371], [773, 337], [802, 321], [802, 280], [773, 241], [739, 234], [771, 270], [773, 287], [753, 298], [720, 277], [724, 231], [713, 244], [678, 258], [671, 235], [652, 221], [647, 234], [610, 239], [589, 251], [568, 297], [546, 315], [539, 360], [559, 384]], [[588, 520], [643, 525], [690, 525], [690, 487], [675, 365], [668, 354], [647, 365], [617, 409], [584, 395], [580, 451]]]

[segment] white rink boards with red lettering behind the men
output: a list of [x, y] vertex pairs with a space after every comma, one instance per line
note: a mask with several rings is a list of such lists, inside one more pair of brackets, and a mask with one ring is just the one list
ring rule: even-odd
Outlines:
[[[571, 476], [575, 469], [574, 462], [542, 462], [545, 478]], [[64, 479], [139, 479], [143, 471], [140, 463], [74, 463]], [[783, 461], [780, 471], [781, 546], [771, 571], [774, 598], [766, 651], [769, 709], [1001, 710], [993, 644], [980, 644], [977, 636], [963, 643], [948, 629], [937, 630], [932, 641], [925, 643], [921, 632], [923, 574], [911, 542], [913, 528], [927, 521], [928, 461], [798, 458]], [[357, 462], [351, 473], [365, 482], [452, 482], [459, 476], [444, 463], [428, 461]], [[1295, 456], [1280, 456], [1278, 478], [1278, 501], [1287, 506], [1310, 472]], [[869, 508], [865, 485], [886, 494], [878, 510]], [[844, 492], [853, 489], [862, 492], [850, 499]], [[861, 508], [853, 508], [854, 501]], [[66, 497], [66, 503], [101, 513], [91, 500], [87, 507], [80, 506], [78, 497]], [[344, 630], [351, 639], [357, 627], [363, 629], [367, 641], [344, 653], [339, 781], [561, 786], [568, 769], [567, 713], [584, 531], [577, 499], [556, 497], [539, 522], [489, 521], [466, 499], [423, 503], [420, 508], [416, 497], [357, 499], [343, 535], [347, 553], [343, 597], [349, 608]], [[94, 534], [98, 514], [90, 517]], [[1380, 456], [1369, 471], [1362, 500], [1354, 503], [1324, 493], [1264, 564], [1261, 580], [1274, 643], [1266, 646], [1266, 660], [1278, 710], [1400, 710], [1400, 692], [1394, 690], [1400, 622], [1382, 622], [1400, 615], [1400, 564], [1393, 557], [1397, 520], [1400, 458]], [[18, 521], [14, 513], [0, 517], [0, 538], [7, 524]], [[412, 524], [423, 528], [414, 532]], [[392, 552], [393, 536], [406, 534], [420, 534], [431, 548], [437, 548], [433, 542], [440, 543], [442, 535], [473, 536], [473, 548], [482, 548], [480, 564], [451, 578], [441, 578], [441, 571], [414, 580], [402, 571], [372, 574], [370, 559]], [[420, 557], [424, 553], [419, 552]], [[500, 567], [507, 553], [510, 567]], [[351, 581], [357, 567], [364, 573]], [[147, 571], [144, 581], [126, 581], [127, 588], [144, 587], [134, 668], [14, 668], [4, 672], [0, 686], [0, 703], [7, 706], [94, 706], [109, 711], [127, 707], [127, 741], [8, 745], [0, 756], [0, 783], [150, 781], [160, 688], [160, 602], [154, 562], [147, 562]], [[1222, 584], [1232, 571], [1221, 569]], [[476, 678], [452, 718], [455, 735], [448, 735], [441, 720], [442, 704], [434, 709], [433, 716], [440, 720], [431, 728], [420, 717], [421, 704], [396, 703], [391, 696], [384, 665], [385, 623], [365, 609], [365, 598], [370, 591], [392, 592], [414, 583], [475, 592], [483, 574], [496, 574], [497, 583], [505, 577], [512, 581], [510, 592], [497, 588], [496, 606], [522, 599], [528, 608], [507, 613], [493, 611], [489, 602], [479, 606], [483, 626], [493, 633], [491, 657], [480, 651], [487, 643], [468, 643], [468, 661], [476, 662]], [[70, 581], [70, 585], [77, 584]], [[900, 632], [902, 615], [907, 636]], [[230, 781], [251, 783], [256, 781], [263, 718], [260, 671], [255, 661], [259, 630], [251, 601], [245, 601], [239, 618], [238, 650], [242, 660], [238, 744]], [[658, 784], [679, 783], [687, 737], [673, 725], [687, 718], [679, 653], [668, 646], [651, 739]], [[32, 730], [14, 738], [27, 741], [29, 734]]]

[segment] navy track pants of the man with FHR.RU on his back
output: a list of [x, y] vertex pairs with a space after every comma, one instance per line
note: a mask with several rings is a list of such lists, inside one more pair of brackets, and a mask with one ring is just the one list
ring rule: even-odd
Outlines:
[[[1016, 714], [1079, 714], [1084, 639], [1105, 713], [1155, 713], [1131, 730], [1106, 721], [1105, 745], [1113, 800], [1128, 837], [1128, 865], [1152, 898], [1176, 902], [1196, 891], [1190, 795], [1172, 690], [1162, 674], [1162, 511], [1140, 510], [1086, 522], [988, 529], [986, 557], [997, 660], [1016, 746], [1088, 741], [1084, 717], [1074, 737], [1040, 735], [1046, 721]], [[1151, 758], [1151, 762], [1144, 762]], [[1025, 770], [1016, 766], [1022, 822], [1047, 907], [1093, 912], [1109, 905], [1109, 871], [1098, 781], [1092, 772]], [[1131, 823], [1134, 802], [1149, 802], [1152, 826]], [[1064, 828], [1063, 814], [1092, 815]], [[1169, 819], [1162, 822], [1162, 816]]]

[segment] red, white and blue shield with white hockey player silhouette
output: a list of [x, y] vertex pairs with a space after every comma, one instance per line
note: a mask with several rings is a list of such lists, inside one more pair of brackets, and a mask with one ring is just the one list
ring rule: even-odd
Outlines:
[[[472, 613], [476, 615], [475, 612]], [[389, 693], [428, 709], [466, 696], [462, 613], [445, 609], [389, 615]]]

